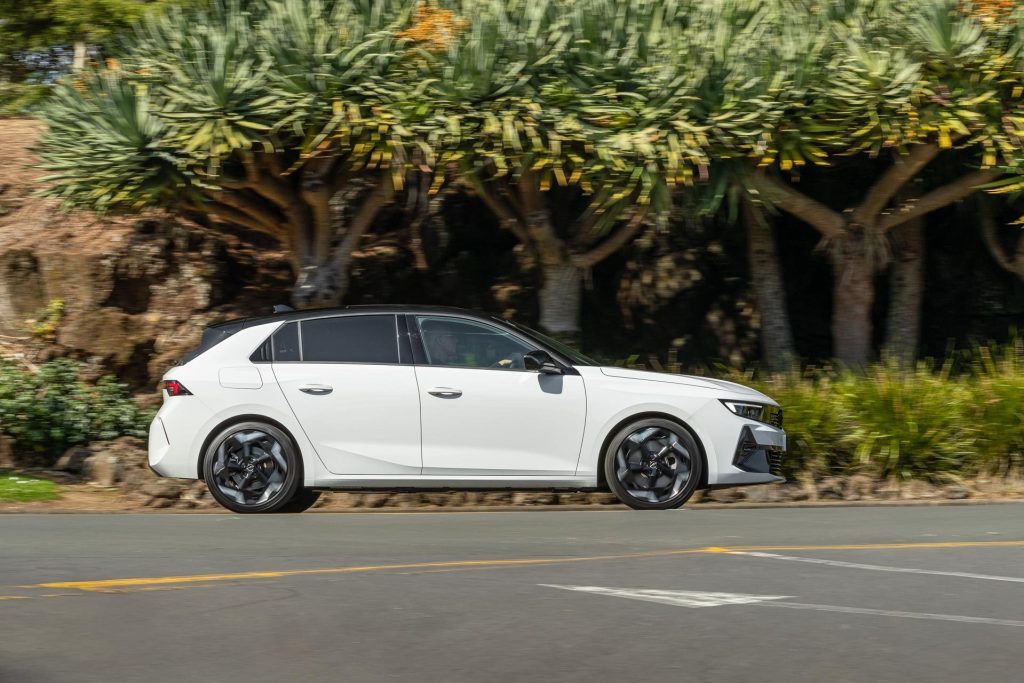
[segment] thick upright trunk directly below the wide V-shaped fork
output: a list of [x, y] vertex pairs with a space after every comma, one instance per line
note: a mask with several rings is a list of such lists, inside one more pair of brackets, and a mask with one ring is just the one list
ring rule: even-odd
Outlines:
[[851, 368], [862, 368], [871, 353], [874, 269], [861, 228], [838, 238], [833, 252], [833, 352]]

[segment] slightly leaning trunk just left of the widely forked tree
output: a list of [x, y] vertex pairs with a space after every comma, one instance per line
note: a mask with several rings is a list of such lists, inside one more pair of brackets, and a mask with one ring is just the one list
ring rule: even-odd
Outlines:
[[746, 223], [746, 244], [751, 278], [761, 314], [761, 357], [771, 372], [787, 370], [796, 357], [785, 289], [775, 250], [775, 236], [763, 214], [749, 199], [741, 206]]

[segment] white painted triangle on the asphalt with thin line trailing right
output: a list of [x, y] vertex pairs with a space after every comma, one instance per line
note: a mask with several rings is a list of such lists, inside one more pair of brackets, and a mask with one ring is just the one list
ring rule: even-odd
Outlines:
[[846, 605], [820, 605], [811, 602], [786, 602], [792, 595], [745, 595], [741, 593], [705, 593], [696, 591], [658, 591], [632, 588], [604, 588], [601, 586], [559, 586], [538, 584], [545, 588], [563, 591], [579, 591], [595, 595], [607, 595], [630, 600], [659, 602], [677, 607], [720, 607], [723, 605], [754, 605], [756, 607], [785, 607], [812, 611], [839, 612], [843, 614], [867, 614], [871, 616], [892, 616], [896, 618], [916, 618], [932, 622], [957, 622], [961, 624], [987, 624], [989, 626], [1010, 626], [1024, 628], [1024, 622], [988, 616], [967, 616], [964, 614], [935, 614], [930, 612], [907, 612], [897, 609], [871, 609], [869, 607], [848, 607]]

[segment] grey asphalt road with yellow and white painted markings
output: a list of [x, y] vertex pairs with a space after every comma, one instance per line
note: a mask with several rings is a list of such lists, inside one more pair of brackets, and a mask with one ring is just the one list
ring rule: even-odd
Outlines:
[[0, 681], [1020, 681], [1024, 505], [0, 515]]

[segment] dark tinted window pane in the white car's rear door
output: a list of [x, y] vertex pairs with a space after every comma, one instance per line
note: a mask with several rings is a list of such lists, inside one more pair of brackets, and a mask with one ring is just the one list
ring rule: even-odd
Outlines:
[[398, 362], [394, 315], [342, 315], [302, 321], [305, 362]]

